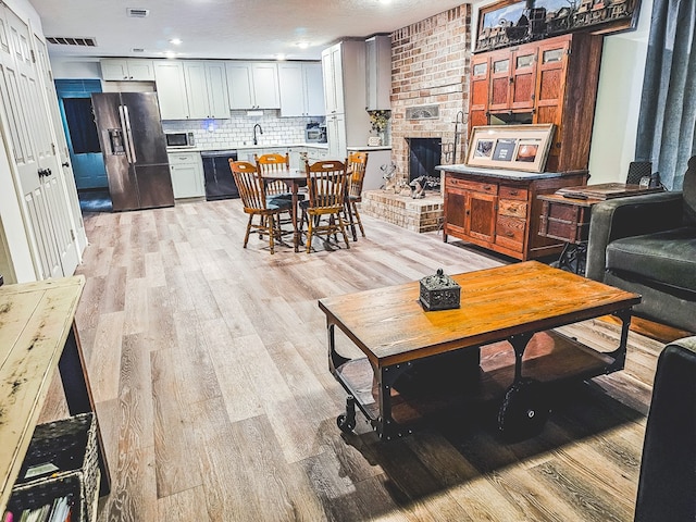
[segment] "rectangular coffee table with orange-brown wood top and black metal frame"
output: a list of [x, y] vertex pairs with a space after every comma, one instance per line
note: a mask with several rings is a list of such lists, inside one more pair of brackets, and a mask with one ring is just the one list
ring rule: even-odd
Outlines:
[[[585, 380], [623, 369], [631, 308], [641, 301], [637, 294], [536, 261], [451, 277], [461, 286], [461, 307], [455, 310], [425, 311], [419, 282], [320, 299], [326, 314], [330, 370], [349, 394], [346, 413], [337, 419], [343, 431], [356, 426], [357, 406], [380, 438], [408, 435], [413, 426], [393, 417], [397, 394], [393, 386], [399, 377], [419, 364], [457, 355], [464, 356], [457, 359], [461, 378], [480, 378], [480, 348], [493, 343], [507, 340], [514, 351], [512, 382], [498, 418], [500, 430], [508, 433], [539, 428], [545, 422], [548, 411], [534, 403], [543, 396], [539, 383]], [[622, 322], [619, 346], [611, 352], [595, 351], [552, 332], [607, 314]], [[348, 359], [337, 352], [336, 326], [364, 358]], [[535, 334], [552, 346], [545, 357], [523, 364], [525, 349], [538, 338]], [[534, 380], [523, 376], [532, 365]]]

